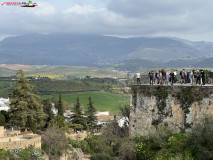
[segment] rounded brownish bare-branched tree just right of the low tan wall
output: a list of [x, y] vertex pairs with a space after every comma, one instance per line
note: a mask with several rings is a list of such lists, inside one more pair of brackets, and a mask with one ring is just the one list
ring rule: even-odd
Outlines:
[[58, 127], [48, 128], [42, 136], [42, 149], [48, 154], [49, 159], [59, 159], [66, 151], [68, 141], [65, 131]]

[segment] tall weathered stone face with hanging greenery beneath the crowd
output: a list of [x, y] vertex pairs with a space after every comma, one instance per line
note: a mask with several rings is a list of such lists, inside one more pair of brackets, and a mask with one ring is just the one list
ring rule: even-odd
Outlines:
[[130, 136], [158, 125], [187, 130], [207, 114], [213, 114], [213, 87], [132, 86]]

